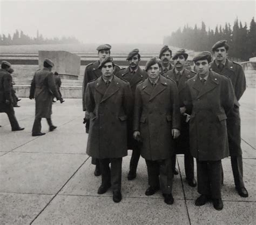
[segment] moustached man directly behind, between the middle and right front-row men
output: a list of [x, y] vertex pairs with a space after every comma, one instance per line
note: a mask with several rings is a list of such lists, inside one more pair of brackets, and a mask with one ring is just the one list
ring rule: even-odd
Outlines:
[[[172, 57], [174, 62], [174, 68], [164, 73], [163, 76], [171, 78], [176, 81], [179, 92], [179, 104], [180, 104], [180, 120], [181, 131], [180, 136], [175, 142], [176, 154], [184, 154], [185, 174], [188, 185], [196, 187], [197, 182], [194, 179], [194, 158], [190, 154], [190, 134], [189, 134], [189, 118], [190, 115], [186, 113], [186, 107], [184, 105], [185, 98], [185, 82], [194, 77], [196, 73], [186, 70], [185, 63], [188, 54], [184, 49], [178, 50]], [[176, 165], [176, 155], [173, 157], [173, 169]]]

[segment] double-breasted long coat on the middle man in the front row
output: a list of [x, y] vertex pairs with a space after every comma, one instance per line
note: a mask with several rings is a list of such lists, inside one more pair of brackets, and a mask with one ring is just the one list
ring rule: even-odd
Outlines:
[[178, 89], [160, 76], [153, 88], [149, 78], [135, 92], [133, 130], [142, 137], [141, 154], [147, 160], [169, 159], [174, 153], [172, 128], [180, 129]]

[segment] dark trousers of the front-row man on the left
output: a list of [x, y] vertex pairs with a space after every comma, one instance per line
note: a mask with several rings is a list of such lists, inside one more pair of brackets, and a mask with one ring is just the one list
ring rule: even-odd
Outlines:
[[[121, 191], [123, 158], [99, 159], [102, 172], [102, 185], [112, 186], [113, 192]], [[109, 167], [111, 163], [111, 167]]]

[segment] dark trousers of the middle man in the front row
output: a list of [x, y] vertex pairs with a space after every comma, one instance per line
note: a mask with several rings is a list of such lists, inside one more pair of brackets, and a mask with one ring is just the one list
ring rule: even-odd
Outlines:
[[161, 188], [163, 194], [172, 193], [173, 171], [172, 159], [147, 160], [149, 186]]

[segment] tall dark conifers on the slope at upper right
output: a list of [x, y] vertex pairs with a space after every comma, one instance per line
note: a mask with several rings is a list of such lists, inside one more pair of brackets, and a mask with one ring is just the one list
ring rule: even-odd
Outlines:
[[247, 61], [249, 58], [255, 57], [256, 23], [254, 17], [250, 28], [247, 28], [246, 23], [242, 25], [238, 18], [235, 19], [233, 27], [230, 23], [226, 23], [224, 27], [217, 25], [214, 31], [210, 28], [206, 31], [204, 22], [201, 23], [201, 28], [198, 28], [197, 25], [194, 28], [185, 25], [183, 30], [179, 28], [172, 32], [171, 36], [164, 37], [164, 44], [194, 51], [211, 51], [213, 44], [222, 39], [227, 40], [227, 44], [230, 46], [228, 56], [231, 58]]

